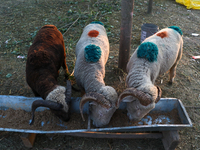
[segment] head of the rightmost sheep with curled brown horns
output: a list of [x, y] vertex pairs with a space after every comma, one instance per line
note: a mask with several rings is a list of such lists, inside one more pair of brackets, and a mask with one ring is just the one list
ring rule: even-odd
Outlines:
[[[162, 91], [157, 86], [143, 86], [140, 90], [127, 88], [119, 96], [121, 101], [127, 103], [127, 115], [131, 121], [141, 120], [149, 113], [161, 98]], [[117, 106], [119, 106], [119, 103]]]

